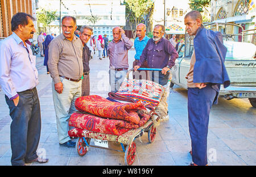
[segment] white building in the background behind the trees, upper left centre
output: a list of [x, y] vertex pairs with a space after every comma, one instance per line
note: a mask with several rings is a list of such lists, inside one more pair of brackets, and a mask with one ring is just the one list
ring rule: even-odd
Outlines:
[[[60, 19], [65, 15], [76, 18], [77, 29], [88, 25], [93, 27], [93, 35], [104, 36], [106, 34], [109, 39], [113, 39], [112, 29], [115, 26], [125, 26], [125, 5], [122, 5], [120, 0], [39, 0], [40, 8], [57, 11], [58, 18], [49, 25], [49, 33], [60, 33]], [[95, 23], [92, 22], [93, 20], [88, 20], [92, 16], [98, 18]]]

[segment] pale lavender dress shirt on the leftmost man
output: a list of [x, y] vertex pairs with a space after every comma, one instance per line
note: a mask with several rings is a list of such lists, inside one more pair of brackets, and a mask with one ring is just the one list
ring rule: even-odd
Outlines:
[[0, 41], [0, 85], [9, 99], [39, 83], [36, 57], [32, 54], [30, 41], [26, 40], [26, 45], [15, 32]]

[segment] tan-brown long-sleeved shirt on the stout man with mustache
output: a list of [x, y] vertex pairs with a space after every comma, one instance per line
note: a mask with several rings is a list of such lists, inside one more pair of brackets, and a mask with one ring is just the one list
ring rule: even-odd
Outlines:
[[82, 77], [82, 41], [77, 36], [69, 41], [62, 33], [49, 44], [48, 68], [54, 83], [60, 77], [79, 80]]

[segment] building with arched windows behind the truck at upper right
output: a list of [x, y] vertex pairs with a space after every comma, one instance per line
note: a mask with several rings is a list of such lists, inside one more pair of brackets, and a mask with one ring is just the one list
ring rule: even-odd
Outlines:
[[245, 36], [239, 35], [233, 37], [235, 41], [245, 41], [255, 44], [255, 31], [256, 29], [256, 9], [255, 0], [212, 0], [211, 14], [213, 22], [232, 23], [238, 26], [221, 25], [218, 27], [219, 31], [228, 34], [241, 34], [244, 32]]

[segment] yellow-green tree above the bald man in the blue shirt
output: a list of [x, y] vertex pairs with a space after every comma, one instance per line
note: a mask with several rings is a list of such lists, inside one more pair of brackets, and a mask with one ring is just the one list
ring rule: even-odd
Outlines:
[[[136, 36], [136, 26], [139, 23], [145, 23], [154, 8], [154, 1], [152, 0], [125, 0], [126, 19], [129, 20], [133, 37]], [[135, 24], [135, 28], [133, 27]]]

